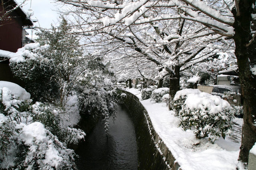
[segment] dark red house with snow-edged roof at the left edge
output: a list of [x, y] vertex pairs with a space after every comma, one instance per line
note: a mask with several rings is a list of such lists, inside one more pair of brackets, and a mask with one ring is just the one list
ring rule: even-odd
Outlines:
[[[14, 0], [3, 0], [0, 5], [0, 14], [6, 10], [12, 10], [17, 6]], [[27, 17], [22, 8], [13, 10], [8, 15], [8, 20], [0, 20], [0, 81], [10, 81], [24, 87], [23, 83], [15, 79], [10, 71], [9, 59], [6, 56], [8, 51], [15, 53], [17, 49], [23, 47], [24, 26], [33, 26], [33, 22]]]

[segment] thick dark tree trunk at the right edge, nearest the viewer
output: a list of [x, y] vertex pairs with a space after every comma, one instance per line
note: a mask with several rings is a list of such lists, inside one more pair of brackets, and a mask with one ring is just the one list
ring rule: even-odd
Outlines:
[[[250, 34], [252, 4], [255, 0], [240, 0], [239, 12], [233, 8], [235, 16], [234, 41], [236, 44], [236, 58], [238, 62], [239, 78], [244, 97], [244, 125], [242, 127], [242, 145], [240, 148], [239, 160], [248, 162], [249, 151], [256, 142], [256, 75], [252, 74], [251, 66], [256, 65], [256, 42], [255, 39], [250, 45], [252, 35]], [[254, 29], [255, 30], [255, 29]]]

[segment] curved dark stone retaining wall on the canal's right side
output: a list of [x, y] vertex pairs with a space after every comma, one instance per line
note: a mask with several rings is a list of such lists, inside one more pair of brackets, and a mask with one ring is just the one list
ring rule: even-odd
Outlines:
[[138, 170], [178, 170], [180, 167], [162, 139], [154, 130], [148, 112], [132, 93], [126, 93], [124, 102], [132, 115], [137, 144]]

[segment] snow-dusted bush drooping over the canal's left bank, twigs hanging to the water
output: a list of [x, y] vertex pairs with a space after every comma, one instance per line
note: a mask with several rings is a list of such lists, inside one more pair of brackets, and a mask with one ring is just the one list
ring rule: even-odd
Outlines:
[[121, 90], [114, 87], [113, 79], [108, 64], [102, 58], [92, 58], [75, 85], [81, 116], [101, 116], [107, 133], [109, 119], [115, 115], [116, 104], [125, 97]]

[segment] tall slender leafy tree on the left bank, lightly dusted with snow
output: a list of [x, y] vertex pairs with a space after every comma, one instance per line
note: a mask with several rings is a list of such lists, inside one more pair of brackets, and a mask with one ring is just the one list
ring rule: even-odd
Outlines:
[[57, 28], [52, 26], [51, 31], [41, 29], [36, 40], [40, 45], [48, 45], [38, 52], [53, 61], [56, 71], [53, 79], [60, 88], [60, 105], [72, 90], [76, 76], [85, 69], [85, 57], [82, 55], [79, 37], [67, 34], [70, 31], [68, 26], [68, 22], [62, 18]]

